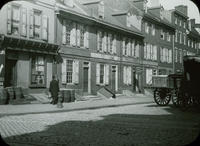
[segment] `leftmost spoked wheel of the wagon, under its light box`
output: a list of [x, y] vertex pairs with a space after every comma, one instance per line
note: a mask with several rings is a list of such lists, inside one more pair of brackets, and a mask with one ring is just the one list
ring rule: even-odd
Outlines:
[[154, 90], [154, 101], [161, 106], [168, 105], [171, 99], [171, 94], [166, 89]]

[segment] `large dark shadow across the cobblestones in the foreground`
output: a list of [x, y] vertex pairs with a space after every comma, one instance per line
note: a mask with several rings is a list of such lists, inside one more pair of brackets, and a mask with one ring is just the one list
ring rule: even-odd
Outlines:
[[7, 137], [11, 146], [186, 145], [197, 137], [193, 116], [113, 114], [98, 121], [65, 121], [44, 131]]

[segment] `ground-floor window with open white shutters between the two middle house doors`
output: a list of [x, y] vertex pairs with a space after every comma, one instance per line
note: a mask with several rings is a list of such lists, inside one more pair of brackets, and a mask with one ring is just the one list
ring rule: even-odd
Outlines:
[[108, 85], [109, 84], [109, 65], [96, 64], [96, 84]]

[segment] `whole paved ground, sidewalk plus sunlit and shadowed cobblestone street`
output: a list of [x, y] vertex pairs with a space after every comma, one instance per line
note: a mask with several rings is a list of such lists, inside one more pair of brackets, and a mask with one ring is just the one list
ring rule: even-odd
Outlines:
[[0, 107], [1, 135], [11, 146], [181, 146], [192, 142], [200, 127], [198, 112], [159, 107], [152, 98], [66, 103], [63, 109], [15, 107], [15, 113], [14, 107]]

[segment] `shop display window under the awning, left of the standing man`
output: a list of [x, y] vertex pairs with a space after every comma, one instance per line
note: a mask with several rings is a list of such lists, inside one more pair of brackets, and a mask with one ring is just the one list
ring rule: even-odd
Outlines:
[[34, 56], [31, 61], [31, 84], [45, 85], [45, 61], [42, 56]]

